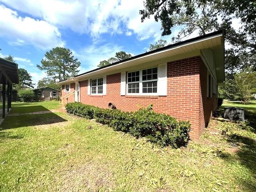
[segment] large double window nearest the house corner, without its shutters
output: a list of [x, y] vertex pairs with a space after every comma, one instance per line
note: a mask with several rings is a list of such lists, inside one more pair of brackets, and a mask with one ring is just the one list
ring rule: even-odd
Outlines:
[[143, 69], [127, 74], [127, 93], [157, 93], [158, 68]]

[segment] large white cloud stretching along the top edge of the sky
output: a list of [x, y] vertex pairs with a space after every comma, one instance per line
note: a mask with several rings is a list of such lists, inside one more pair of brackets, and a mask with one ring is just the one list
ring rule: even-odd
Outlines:
[[136, 34], [139, 40], [159, 39], [161, 25], [154, 18], [141, 22], [143, 1], [120, 0], [0, 0], [4, 4], [36, 18], [94, 38], [100, 34]]

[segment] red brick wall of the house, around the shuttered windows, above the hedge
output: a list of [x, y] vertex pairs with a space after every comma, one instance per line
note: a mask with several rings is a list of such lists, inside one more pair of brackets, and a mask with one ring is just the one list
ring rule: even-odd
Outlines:
[[206, 98], [205, 70], [206, 66], [200, 56], [168, 62], [167, 96], [120, 96], [120, 73], [106, 77], [106, 95], [88, 95], [88, 80], [85, 80], [80, 82], [80, 99], [84, 104], [101, 108], [107, 108], [108, 103], [112, 102], [123, 111], [134, 111], [153, 104], [156, 112], [170, 114], [178, 120], [190, 121], [192, 124], [190, 138], [198, 139], [205, 122], [210, 119], [211, 106], [213, 106], [211, 103], [213, 98], [212, 100]]

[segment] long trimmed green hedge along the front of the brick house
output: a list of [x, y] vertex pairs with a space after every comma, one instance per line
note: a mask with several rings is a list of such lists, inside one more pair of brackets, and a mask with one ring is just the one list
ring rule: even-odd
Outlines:
[[68, 103], [68, 113], [95, 119], [96, 122], [107, 124], [116, 131], [129, 132], [135, 137], [146, 137], [150, 142], [160, 146], [186, 146], [189, 136], [190, 123], [178, 121], [167, 114], [156, 113], [148, 108], [136, 112], [102, 109], [82, 103]]

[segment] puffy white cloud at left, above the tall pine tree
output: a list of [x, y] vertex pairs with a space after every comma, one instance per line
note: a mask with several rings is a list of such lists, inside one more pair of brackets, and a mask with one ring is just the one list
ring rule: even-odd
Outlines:
[[43, 20], [20, 17], [17, 12], [1, 5], [0, 36], [11, 39], [11, 44], [32, 44], [41, 49], [64, 45], [55, 26]]

